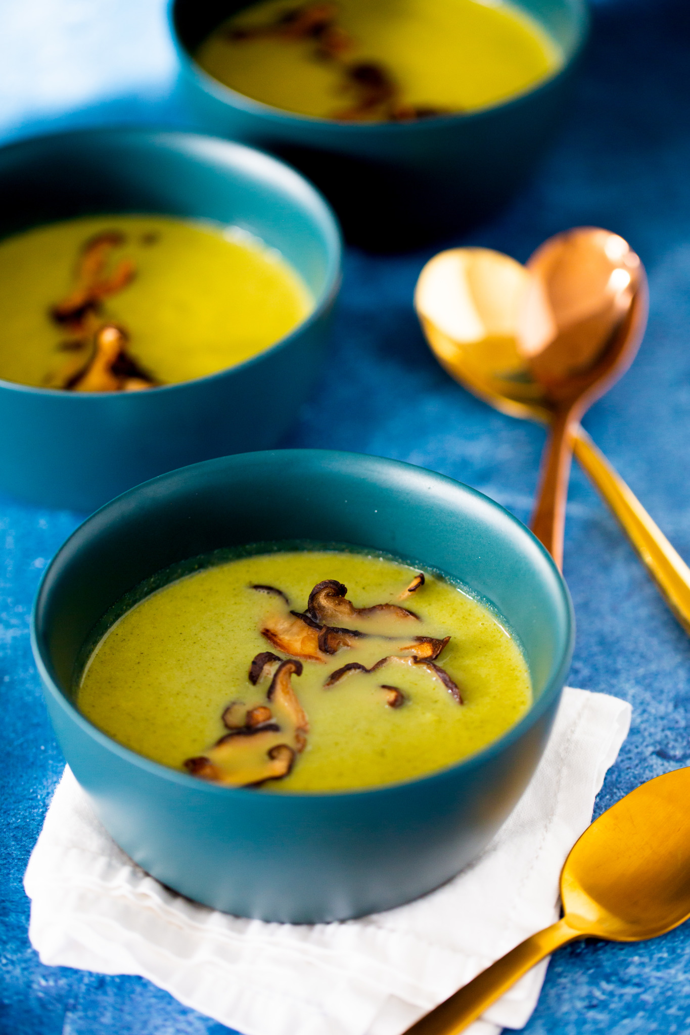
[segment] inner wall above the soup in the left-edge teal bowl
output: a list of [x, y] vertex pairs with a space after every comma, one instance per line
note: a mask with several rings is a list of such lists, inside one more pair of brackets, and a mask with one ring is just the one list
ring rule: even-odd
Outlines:
[[157, 213], [233, 224], [277, 248], [317, 306], [338, 277], [339, 234], [288, 166], [194, 134], [86, 130], [0, 150], [0, 237], [77, 215]]

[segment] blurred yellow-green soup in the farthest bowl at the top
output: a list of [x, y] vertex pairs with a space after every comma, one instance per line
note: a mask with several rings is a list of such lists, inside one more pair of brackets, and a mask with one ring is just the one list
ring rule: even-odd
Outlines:
[[194, 57], [247, 97], [343, 121], [473, 111], [563, 63], [544, 29], [501, 0], [264, 0], [218, 26]]

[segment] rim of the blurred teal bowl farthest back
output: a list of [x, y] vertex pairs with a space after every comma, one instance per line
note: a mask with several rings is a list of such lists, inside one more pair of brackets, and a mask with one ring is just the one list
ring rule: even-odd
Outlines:
[[[337, 119], [321, 118], [316, 115], [302, 115], [299, 112], [289, 112], [281, 108], [274, 108], [263, 100], [256, 100], [247, 94], [240, 93], [239, 90], [227, 86], [219, 80], [207, 72], [194, 60], [191, 53], [182, 42], [177, 31], [175, 12], [179, 0], [168, 0], [168, 29], [175, 49], [177, 59], [182, 69], [190, 75], [201, 85], [205, 93], [210, 94], [217, 100], [226, 103], [231, 109], [239, 109], [248, 115], [253, 115], [262, 120], [273, 121], [283, 126], [324, 126], [327, 131], [340, 134], [341, 136], [355, 136], [357, 134], [404, 134], [423, 132], [433, 127], [444, 127], [455, 123], [473, 122], [485, 116], [492, 115], [504, 109], [520, 105], [526, 98], [538, 95], [549, 89], [552, 84], [566, 76], [577, 61], [590, 34], [591, 13], [588, 0], [563, 0], [564, 7], [572, 9], [573, 25], [576, 30], [576, 38], [569, 54], [564, 54], [563, 62], [543, 79], [538, 80], [532, 86], [527, 87], [517, 93], [511, 93], [504, 100], [483, 105], [481, 108], [472, 109], [469, 112], [451, 112], [447, 115], [437, 115], [428, 119], [415, 119], [409, 122], [340, 122]], [[516, 6], [521, 8], [520, 0], [516, 0]], [[539, 21], [535, 17], [535, 21]], [[219, 23], [218, 23], [219, 24]]]

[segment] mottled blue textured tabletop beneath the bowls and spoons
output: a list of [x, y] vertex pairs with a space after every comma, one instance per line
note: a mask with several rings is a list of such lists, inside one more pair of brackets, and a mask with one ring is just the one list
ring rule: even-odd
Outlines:
[[[2, 0], [0, 25], [4, 138], [65, 123], [184, 123], [158, 0]], [[686, 558], [689, 47], [687, 0], [599, 0], [560, 141], [510, 208], [466, 239], [524, 259], [556, 231], [598, 224], [640, 254], [651, 282], [649, 331], [631, 372], [586, 424]], [[467, 481], [526, 519], [543, 433], [476, 402], [428, 355], [411, 295], [429, 254], [349, 255], [330, 374], [283, 444], [408, 460]], [[143, 980], [41, 967], [27, 940], [22, 875], [62, 768], [30, 657], [29, 611], [46, 559], [78, 520], [7, 501], [1, 509], [0, 1031], [220, 1035], [222, 1026]], [[690, 644], [577, 471], [565, 573], [579, 623], [571, 682], [626, 698], [634, 709], [600, 811], [690, 759]], [[689, 964], [687, 925], [639, 945], [588, 942], [562, 950], [527, 1031], [687, 1032]]]

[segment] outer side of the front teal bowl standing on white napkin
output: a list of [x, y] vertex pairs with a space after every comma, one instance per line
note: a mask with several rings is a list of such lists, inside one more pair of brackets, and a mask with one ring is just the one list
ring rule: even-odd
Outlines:
[[386, 789], [384, 808], [376, 793], [230, 798], [224, 789], [191, 808], [186, 788], [117, 759], [103, 766], [50, 701], [49, 713], [103, 827], [161, 884], [234, 916], [322, 923], [402, 906], [473, 862], [517, 804], [557, 705], [500, 764], [485, 761], [460, 783], [437, 776], [431, 795], [423, 785]]

